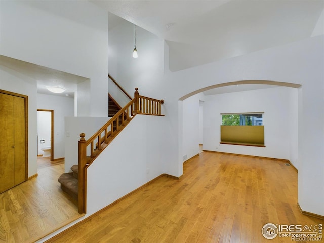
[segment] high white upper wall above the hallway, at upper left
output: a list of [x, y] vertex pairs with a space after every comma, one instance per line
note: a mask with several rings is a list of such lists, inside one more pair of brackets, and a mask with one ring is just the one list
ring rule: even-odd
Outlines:
[[[91, 79], [78, 111], [108, 116], [108, 13], [89, 1], [0, 1], [0, 54]], [[100, 105], [98, 105], [100, 104]]]

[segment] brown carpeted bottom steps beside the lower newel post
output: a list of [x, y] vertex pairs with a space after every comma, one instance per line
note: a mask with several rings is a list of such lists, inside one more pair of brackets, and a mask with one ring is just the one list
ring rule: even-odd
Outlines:
[[66, 192], [77, 200], [78, 195], [78, 174], [79, 168], [78, 165], [73, 165], [71, 167], [72, 172], [64, 173], [60, 176], [58, 181], [61, 183], [62, 191]]

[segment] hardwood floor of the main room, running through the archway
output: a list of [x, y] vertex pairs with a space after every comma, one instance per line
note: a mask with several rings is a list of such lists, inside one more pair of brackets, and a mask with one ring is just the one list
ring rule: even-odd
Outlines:
[[324, 222], [300, 213], [285, 161], [204, 151], [181, 179], [160, 177], [47, 242], [292, 242], [265, 239], [266, 223]]

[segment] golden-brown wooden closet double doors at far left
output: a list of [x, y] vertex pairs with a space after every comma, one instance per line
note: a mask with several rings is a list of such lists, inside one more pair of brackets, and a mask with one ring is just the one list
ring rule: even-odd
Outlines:
[[26, 181], [26, 100], [0, 91], [0, 193]]

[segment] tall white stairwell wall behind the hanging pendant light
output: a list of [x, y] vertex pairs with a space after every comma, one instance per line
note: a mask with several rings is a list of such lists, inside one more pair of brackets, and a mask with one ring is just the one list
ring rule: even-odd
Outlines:
[[[164, 72], [164, 41], [136, 26], [136, 49], [133, 58], [134, 24], [121, 20], [109, 31], [109, 73], [131, 96], [135, 87], [141, 95], [163, 99], [158, 87]], [[160, 94], [159, 94], [160, 95]]]

